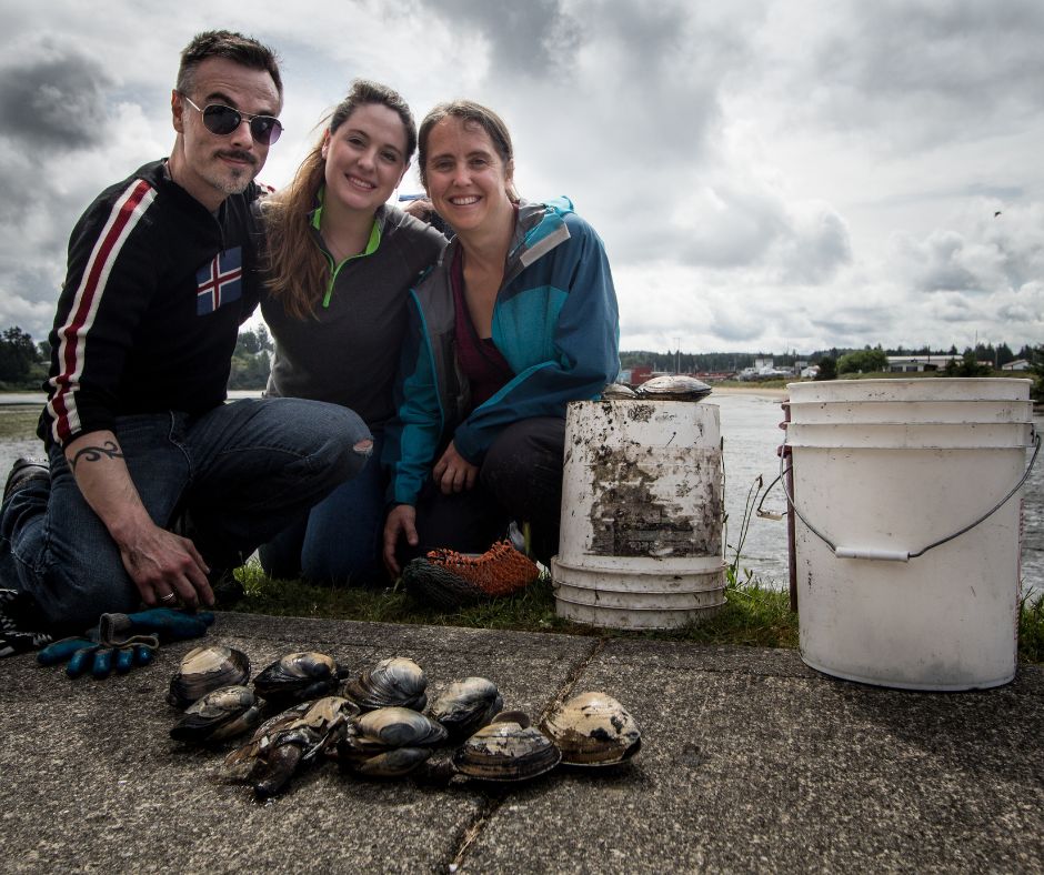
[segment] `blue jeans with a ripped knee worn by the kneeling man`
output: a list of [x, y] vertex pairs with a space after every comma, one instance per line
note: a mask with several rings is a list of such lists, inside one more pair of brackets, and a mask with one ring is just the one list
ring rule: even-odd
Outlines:
[[[354, 449], [370, 439], [355, 413], [300, 399], [120, 416], [116, 434], [153, 522], [184, 522], [214, 571], [242, 564], [370, 456]], [[58, 446], [50, 464], [50, 483], [31, 481], [0, 510], [0, 581], [33, 596], [42, 626], [82, 632], [101, 613], [135, 610], [140, 595]]]

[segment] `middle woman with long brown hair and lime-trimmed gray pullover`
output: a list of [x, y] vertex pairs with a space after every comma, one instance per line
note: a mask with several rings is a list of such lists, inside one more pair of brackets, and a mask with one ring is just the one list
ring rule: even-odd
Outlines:
[[267, 394], [329, 401], [370, 426], [362, 474], [261, 547], [273, 576], [365, 583], [382, 576], [383, 426], [406, 325], [406, 295], [445, 238], [387, 203], [416, 148], [392, 89], [357, 80], [290, 185], [265, 199], [267, 294], [275, 340]]

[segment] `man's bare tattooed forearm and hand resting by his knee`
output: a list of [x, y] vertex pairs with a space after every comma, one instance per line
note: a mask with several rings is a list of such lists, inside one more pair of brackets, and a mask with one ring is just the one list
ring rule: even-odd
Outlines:
[[104, 523], [142, 601], [170, 607], [212, 605], [210, 569], [195, 545], [158, 526], [131, 480], [111, 431], [89, 432], [66, 446], [66, 459], [87, 503]]

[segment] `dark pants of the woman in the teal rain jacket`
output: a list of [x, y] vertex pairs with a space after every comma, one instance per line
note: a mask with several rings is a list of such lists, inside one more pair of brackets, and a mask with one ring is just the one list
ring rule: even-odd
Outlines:
[[564, 449], [565, 420], [520, 420], [486, 452], [474, 489], [443, 495], [429, 481], [416, 503], [420, 543], [400, 542], [400, 565], [439, 547], [484, 553], [512, 521], [530, 524], [533, 555], [550, 564], [559, 549]]

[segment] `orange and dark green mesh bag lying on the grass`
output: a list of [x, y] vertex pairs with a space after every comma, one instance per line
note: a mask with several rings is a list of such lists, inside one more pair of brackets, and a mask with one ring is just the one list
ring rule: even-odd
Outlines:
[[445, 607], [509, 595], [539, 576], [536, 563], [508, 541], [498, 541], [481, 556], [432, 550], [425, 557], [410, 562], [402, 572], [411, 593]]

